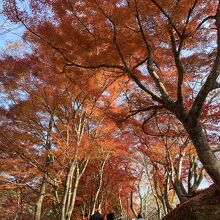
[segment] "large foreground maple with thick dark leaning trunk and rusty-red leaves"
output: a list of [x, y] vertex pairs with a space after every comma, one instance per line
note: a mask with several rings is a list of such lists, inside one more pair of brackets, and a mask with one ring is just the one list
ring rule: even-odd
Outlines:
[[68, 75], [102, 69], [126, 76], [147, 99], [137, 112], [175, 115], [220, 188], [220, 164], [200, 121], [219, 88], [218, 1], [5, 0], [4, 11], [27, 29], [35, 59], [48, 51]]

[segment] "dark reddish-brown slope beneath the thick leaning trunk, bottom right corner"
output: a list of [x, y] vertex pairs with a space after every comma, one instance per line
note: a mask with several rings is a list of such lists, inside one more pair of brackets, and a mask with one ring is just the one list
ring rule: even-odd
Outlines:
[[220, 220], [220, 193], [212, 185], [179, 205], [163, 220]]

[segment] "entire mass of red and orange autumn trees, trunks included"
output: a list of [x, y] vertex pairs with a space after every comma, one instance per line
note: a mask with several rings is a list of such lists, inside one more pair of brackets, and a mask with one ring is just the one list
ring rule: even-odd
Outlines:
[[4, 0], [3, 13], [25, 31], [0, 60], [1, 177], [37, 191], [35, 219], [125, 215], [128, 200], [137, 215], [143, 179], [164, 214], [204, 171], [220, 190], [219, 1]]

